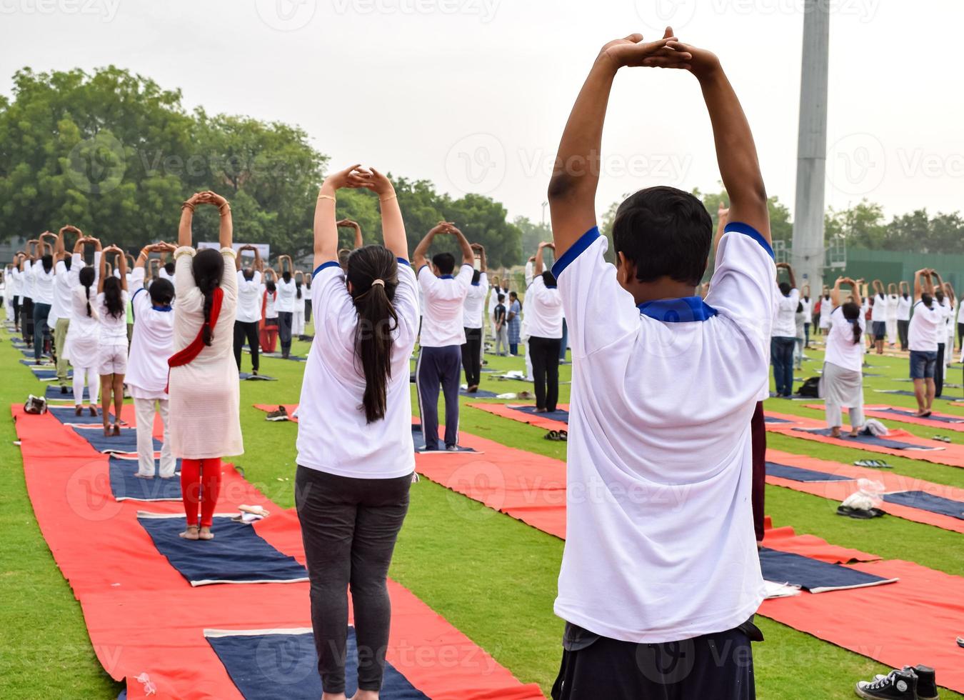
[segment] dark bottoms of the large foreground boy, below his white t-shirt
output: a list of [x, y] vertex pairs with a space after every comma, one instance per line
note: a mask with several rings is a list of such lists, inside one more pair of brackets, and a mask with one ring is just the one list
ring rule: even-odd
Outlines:
[[733, 630], [678, 642], [635, 644], [566, 623], [553, 700], [713, 698], [755, 700], [752, 619]]

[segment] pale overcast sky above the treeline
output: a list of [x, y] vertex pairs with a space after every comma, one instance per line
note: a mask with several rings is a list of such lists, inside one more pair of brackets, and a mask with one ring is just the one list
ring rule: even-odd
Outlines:
[[[888, 214], [964, 208], [964, 4], [820, 0], [832, 12], [827, 203]], [[715, 51], [756, 136], [767, 190], [793, 208], [803, 0], [0, 0], [13, 71], [114, 64], [185, 107], [304, 127], [334, 166], [371, 164], [482, 192], [539, 221], [573, 99], [606, 40]], [[598, 208], [719, 173], [695, 79], [618, 76]]]

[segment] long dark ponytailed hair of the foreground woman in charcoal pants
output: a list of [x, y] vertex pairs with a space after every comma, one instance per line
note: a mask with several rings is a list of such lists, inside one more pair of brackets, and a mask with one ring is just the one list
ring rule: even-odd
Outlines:
[[[364, 246], [348, 256], [348, 282], [359, 314], [355, 352], [362, 363], [362, 408], [369, 423], [385, 417], [388, 378], [391, 376], [391, 332], [398, 314], [391, 305], [398, 286], [398, 261], [383, 246]], [[373, 284], [382, 280], [384, 284]]]

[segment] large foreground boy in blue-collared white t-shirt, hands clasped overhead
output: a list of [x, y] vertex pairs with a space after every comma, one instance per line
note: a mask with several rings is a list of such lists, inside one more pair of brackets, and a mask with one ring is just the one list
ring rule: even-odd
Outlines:
[[[763, 579], [750, 420], [767, 382], [776, 268], [736, 94], [713, 54], [671, 32], [603, 47], [549, 183], [552, 272], [573, 351], [557, 698], [753, 697], [750, 641], [761, 635], [751, 618]], [[616, 72], [629, 66], [687, 69], [703, 89], [731, 200], [705, 302], [694, 290], [712, 222], [682, 190], [631, 195], [613, 224], [616, 266], [604, 258], [595, 206], [603, 120]], [[683, 658], [687, 673], [659, 665]]]

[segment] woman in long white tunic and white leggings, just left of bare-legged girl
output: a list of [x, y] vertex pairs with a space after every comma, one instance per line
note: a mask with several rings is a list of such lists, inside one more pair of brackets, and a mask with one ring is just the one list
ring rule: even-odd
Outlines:
[[[84, 248], [94, 246], [94, 265], [84, 265]], [[84, 385], [90, 393], [88, 408], [91, 416], [97, 415], [97, 396], [100, 378], [97, 376], [97, 359], [100, 352], [100, 316], [94, 308], [97, 301], [97, 283], [101, 258], [100, 241], [82, 237], [73, 247], [70, 269], [76, 269], [77, 283], [70, 290], [70, 324], [67, 327], [65, 354], [73, 366], [74, 413], [80, 416], [84, 410]]]

